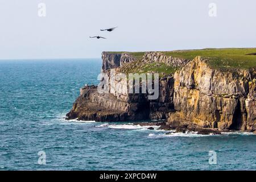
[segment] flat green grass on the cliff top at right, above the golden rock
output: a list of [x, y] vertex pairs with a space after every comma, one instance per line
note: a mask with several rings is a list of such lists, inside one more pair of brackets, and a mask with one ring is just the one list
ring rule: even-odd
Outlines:
[[201, 56], [209, 59], [209, 65], [213, 68], [256, 68], [256, 48], [222, 48], [222, 49], [198, 49], [162, 52], [166, 56], [194, 59]]

